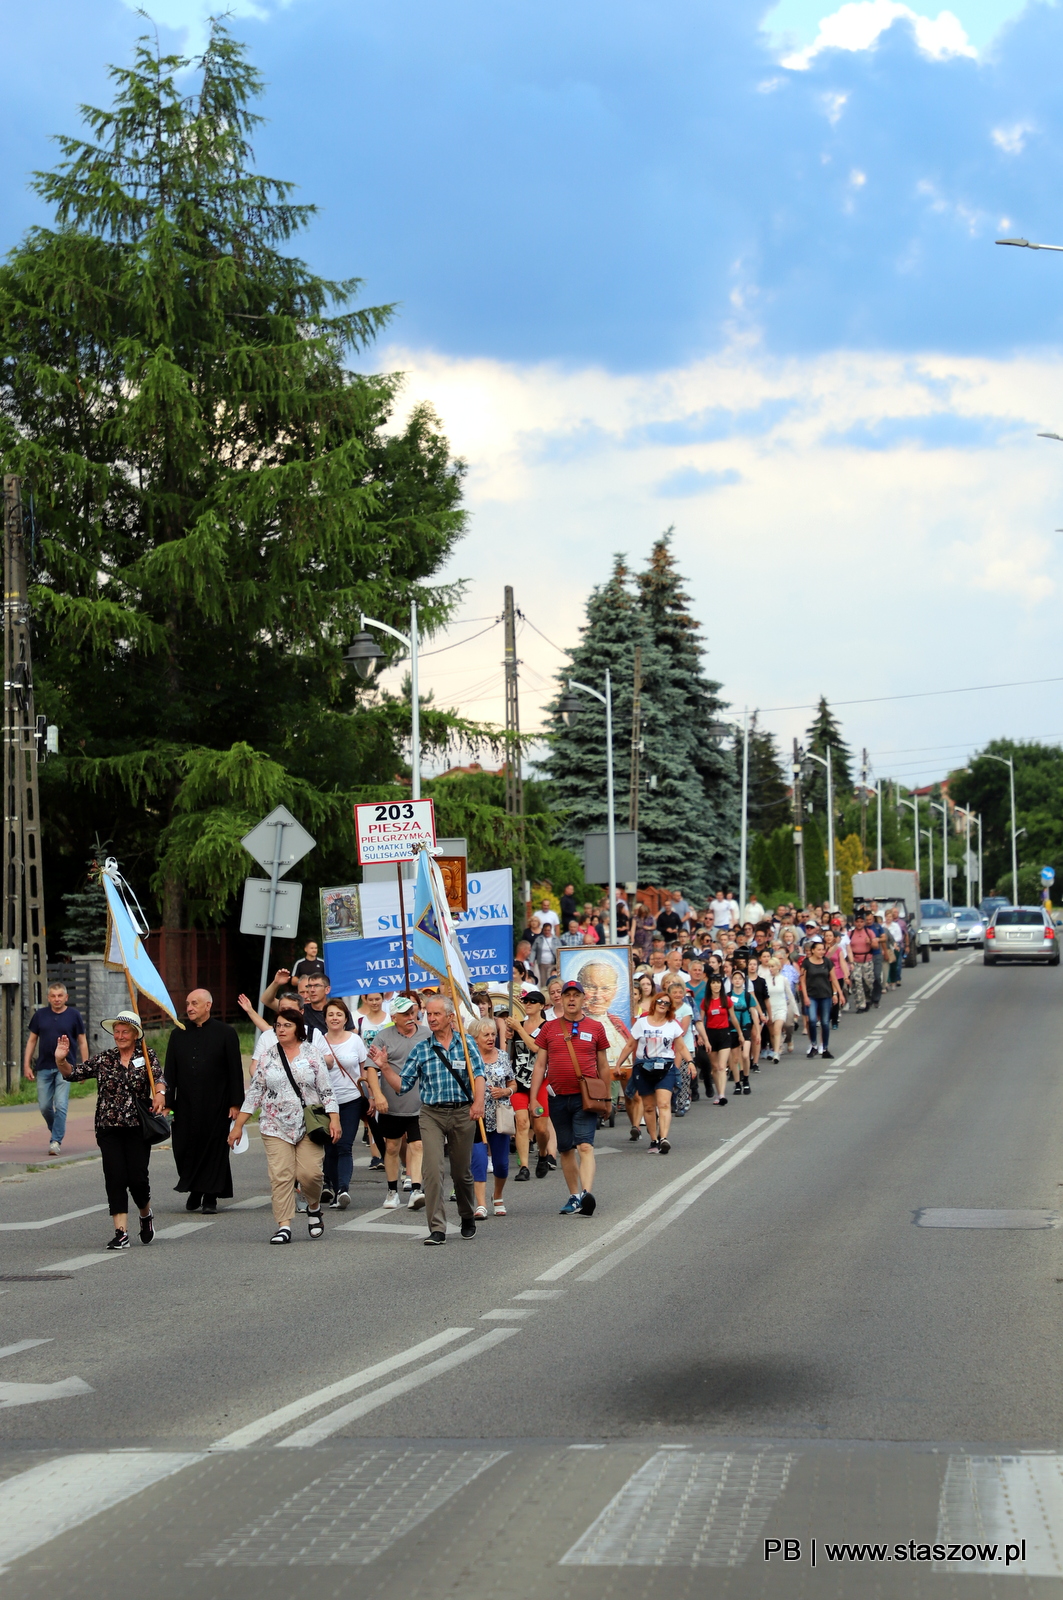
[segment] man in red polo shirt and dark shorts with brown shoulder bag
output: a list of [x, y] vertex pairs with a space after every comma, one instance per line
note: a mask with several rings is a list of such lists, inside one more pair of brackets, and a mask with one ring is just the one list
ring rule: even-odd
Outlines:
[[[580, 1077], [612, 1082], [608, 1037], [600, 1022], [583, 1010], [583, 984], [570, 979], [560, 992], [562, 1014], [544, 1022], [535, 1040], [538, 1053], [532, 1072], [532, 1106], [544, 1107], [557, 1134], [560, 1168], [568, 1184], [562, 1216], [594, 1216], [594, 1130], [597, 1115], [583, 1109]], [[573, 1066], [573, 1054], [576, 1064]], [[576, 1075], [576, 1066], [580, 1075]], [[543, 1093], [546, 1080], [549, 1093]]]

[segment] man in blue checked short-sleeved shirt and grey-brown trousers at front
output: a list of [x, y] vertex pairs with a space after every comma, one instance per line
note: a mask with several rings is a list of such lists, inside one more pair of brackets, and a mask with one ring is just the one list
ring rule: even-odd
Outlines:
[[472, 1141], [475, 1125], [483, 1115], [483, 1062], [480, 1053], [467, 1042], [472, 1083], [461, 1035], [455, 1026], [453, 1000], [432, 995], [424, 1006], [431, 1038], [423, 1038], [407, 1056], [402, 1078], [392, 1083], [394, 1074], [386, 1070], [392, 1088], [402, 1093], [418, 1083], [421, 1094], [421, 1144], [424, 1150], [421, 1179], [424, 1182], [426, 1218], [429, 1234], [426, 1245], [447, 1243], [447, 1210], [443, 1206], [443, 1141], [450, 1150], [450, 1176], [458, 1197], [461, 1237], [475, 1238], [475, 1192], [472, 1189]]

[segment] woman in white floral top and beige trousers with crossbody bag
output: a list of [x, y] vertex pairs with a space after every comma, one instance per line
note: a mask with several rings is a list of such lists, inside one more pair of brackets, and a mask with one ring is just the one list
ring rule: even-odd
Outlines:
[[307, 1043], [303, 1018], [280, 1011], [275, 1022], [277, 1043], [263, 1054], [248, 1083], [243, 1106], [232, 1125], [229, 1144], [237, 1144], [243, 1123], [261, 1109], [259, 1133], [269, 1168], [277, 1232], [271, 1245], [287, 1245], [295, 1216], [295, 1186], [306, 1200], [311, 1238], [325, 1232], [322, 1216], [322, 1163], [325, 1150], [306, 1134], [306, 1106], [323, 1106], [328, 1112], [328, 1134], [333, 1142], [341, 1134], [339, 1106], [333, 1093], [328, 1067], [317, 1045]]

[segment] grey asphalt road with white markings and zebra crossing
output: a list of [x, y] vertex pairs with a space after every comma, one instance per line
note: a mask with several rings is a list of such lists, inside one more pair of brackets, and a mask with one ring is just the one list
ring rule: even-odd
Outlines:
[[935, 955], [443, 1250], [365, 1168], [269, 1248], [255, 1141], [117, 1259], [96, 1163], [3, 1182], [5, 1595], [1058, 1597], [1060, 982]]

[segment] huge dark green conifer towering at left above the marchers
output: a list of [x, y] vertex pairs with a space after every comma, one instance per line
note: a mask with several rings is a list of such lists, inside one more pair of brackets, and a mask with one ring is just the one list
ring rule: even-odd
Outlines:
[[[408, 704], [343, 651], [363, 606], [448, 616], [429, 579], [463, 466], [426, 406], [394, 421], [397, 376], [349, 370], [391, 309], [285, 251], [314, 208], [253, 168], [261, 82], [224, 26], [197, 62], [141, 42], [112, 78], [35, 176], [54, 226], [0, 269], [0, 453], [42, 530], [37, 693], [69, 752], [42, 781], [51, 848], [74, 875], [91, 813], [176, 926], [224, 914], [234, 840], [279, 798], [349, 874], [351, 795], [402, 771]], [[427, 746], [456, 733], [426, 706]]]

